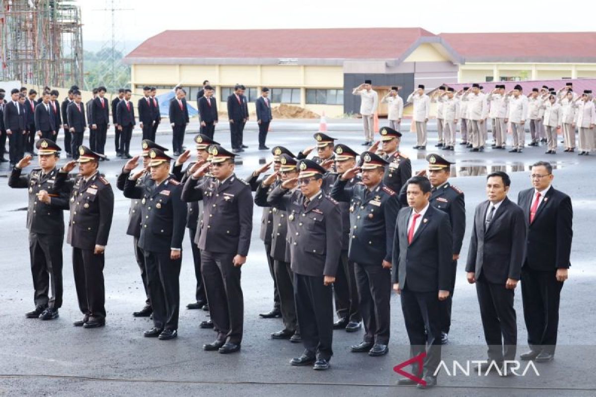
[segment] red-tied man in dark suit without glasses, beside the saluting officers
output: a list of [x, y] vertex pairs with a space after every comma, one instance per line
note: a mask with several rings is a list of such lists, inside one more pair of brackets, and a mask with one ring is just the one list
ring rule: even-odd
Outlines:
[[[449, 215], [430, 205], [431, 189], [425, 177], [406, 182], [409, 207], [399, 211], [393, 238], [393, 290], [401, 295], [410, 356], [426, 351], [422, 368], [418, 361], [412, 365], [412, 373], [423, 380], [417, 385], [421, 389], [437, 384], [433, 374], [441, 360], [439, 302], [449, 297], [451, 288]], [[398, 381], [398, 385], [414, 384], [408, 378]]]

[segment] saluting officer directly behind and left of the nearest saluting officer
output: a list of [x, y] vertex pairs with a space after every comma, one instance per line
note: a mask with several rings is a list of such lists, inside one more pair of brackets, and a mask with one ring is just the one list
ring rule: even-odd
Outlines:
[[[286, 152], [282, 153], [282, 149]], [[293, 285], [294, 275], [290, 267], [289, 246], [286, 240], [288, 233], [288, 214], [283, 210], [271, 208], [267, 204], [267, 197], [275, 187], [280, 185], [284, 180], [298, 176], [298, 161], [287, 152], [289, 151], [281, 146], [274, 148], [274, 153], [280, 153], [280, 155], [275, 156], [274, 161], [280, 165], [277, 171], [259, 183], [256, 195], [254, 195], [254, 204], [259, 207], [270, 208], [273, 215], [271, 251], [269, 255], [274, 260], [275, 285], [277, 285], [277, 292], [280, 295], [280, 310], [284, 329], [272, 333], [271, 339], [290, 339], [290, 342], [299, 343], [302, 341], [302, 337], [300, 337], [300, 329], [296, 317]]]

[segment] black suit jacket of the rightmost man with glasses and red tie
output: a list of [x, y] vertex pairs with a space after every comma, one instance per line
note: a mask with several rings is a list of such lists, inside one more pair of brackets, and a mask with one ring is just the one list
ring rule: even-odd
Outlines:
[[522, 207], [527, 223], [526, 261], [532, 270], [552, 271], [569, 268], [573, 238], [571, 198], [550, 187], [530, 224], [530, 208], [535, 189], [522, 190], [517, 204]]

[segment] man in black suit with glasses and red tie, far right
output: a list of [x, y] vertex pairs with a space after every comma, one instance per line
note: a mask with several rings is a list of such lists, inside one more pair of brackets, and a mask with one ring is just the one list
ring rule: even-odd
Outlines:
[[533, 187], [517, 197], [527, 220], [522, 299], [530, 351], [521, 358], [547, 362], [557, 345], [561, 288], [570, 267], [573, 208], [571, 198], [552, 187], [549, 162], [533, 164], [531, 178]]

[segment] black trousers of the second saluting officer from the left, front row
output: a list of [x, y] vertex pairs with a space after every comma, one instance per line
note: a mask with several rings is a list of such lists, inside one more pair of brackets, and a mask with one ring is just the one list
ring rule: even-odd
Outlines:
[[73, 247], [73, 273], [80, 311], [91, 320], [105, 318], [104, 254]]

